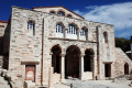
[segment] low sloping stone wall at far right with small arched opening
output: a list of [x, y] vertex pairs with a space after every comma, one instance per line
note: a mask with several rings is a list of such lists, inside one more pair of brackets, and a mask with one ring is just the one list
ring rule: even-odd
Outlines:
[[116, 58], [113, 62], [113, 77], [124, 75], [124, 64], [129, 64], [129, 74], [132, 73], [132, 61], [121, 48], [116, 48]]

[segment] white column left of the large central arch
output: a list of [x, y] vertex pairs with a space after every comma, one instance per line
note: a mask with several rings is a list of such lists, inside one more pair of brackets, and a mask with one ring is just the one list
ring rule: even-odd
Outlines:
[[65, 54], [62, 54], [61, 59], [61, 81], [65, 80]]

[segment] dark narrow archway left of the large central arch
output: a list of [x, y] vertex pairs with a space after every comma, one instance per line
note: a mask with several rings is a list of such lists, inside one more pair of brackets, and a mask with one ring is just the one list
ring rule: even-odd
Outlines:
[[61, 73], [61, 53], [62, 50], [59, 45], [55, 45], [52, 47], [52, 67], [54, 67], [54, 73]]

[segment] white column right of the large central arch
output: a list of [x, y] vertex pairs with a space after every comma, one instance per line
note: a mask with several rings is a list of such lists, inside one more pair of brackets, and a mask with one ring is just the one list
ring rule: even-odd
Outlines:
[[84, 56], [85, 55], [81, 55], [80, 58], [79, 58], [79, 77], [80, 77], [80, 80], [84, 79]]

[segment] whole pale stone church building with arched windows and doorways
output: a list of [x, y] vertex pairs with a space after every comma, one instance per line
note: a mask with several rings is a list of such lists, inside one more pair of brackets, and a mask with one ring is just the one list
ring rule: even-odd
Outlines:
[[[1, 22], [2, 23], [2, 22]], [[2, 68], [20, 86], [54, 87], [68, 78], [99, 80], [132, 73], [132, 61], [114, 46], [114, 26], [85, 20], [64, 7], [12, 7], [1, 37]]]

